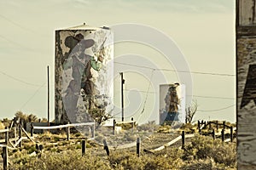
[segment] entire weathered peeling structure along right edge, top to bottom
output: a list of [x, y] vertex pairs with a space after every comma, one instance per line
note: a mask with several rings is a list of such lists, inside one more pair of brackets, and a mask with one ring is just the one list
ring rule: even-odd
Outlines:
[[237, 169], [256, 169], [256, 0], [236, 0]]

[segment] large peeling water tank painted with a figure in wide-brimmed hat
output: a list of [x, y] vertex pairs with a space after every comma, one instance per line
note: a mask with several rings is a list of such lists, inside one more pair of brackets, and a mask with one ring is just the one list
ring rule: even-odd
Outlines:
[[88, 25], [55, 31], [55, 122], [91, 122], [113, 111], [113, 32]]

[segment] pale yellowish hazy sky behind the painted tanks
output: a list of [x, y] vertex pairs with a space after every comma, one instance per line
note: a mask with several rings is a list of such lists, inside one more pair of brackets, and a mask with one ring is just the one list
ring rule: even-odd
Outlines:
[[[55, 30], [84, 22], [90, 26], [122, 23], [151, 26], [172, 38], [191, 71], [236, 74], [235, 1], [231, 0], [3, 0], [0, 2], [0, 22], [0, 118], [13, 117], [16, 111], [47, 117], [46, 67], [49, 65], [50, 117], [54, 119]], [[148, 58], [157, 68], [175, 68], [154, 48], [134, 42], [115, 45], [114, 57], [118, 61], [122, 61], [120, 56], [129, 54]], [[123, 62], [143, 65], [136, 59]], [[115, 64], [115, 71], [123, 68]], [[130, 70], [124, 73], [125, 112], [147, 122], [148, 117], [151, 120], [158, 114], [159, 103], [155, 99], [159, 89], [151, 83], [147, 100], [147, 93], [129, 93], [131, 89], [147, 91], [148, 79], [135, 67], [125, 69]], [[178, 81], [173, 71], [162, 71], [162, 74], [168, 83]], [[153, 80], [156, 75], [153, 74]], [[236, 122], [236, 77], [191, 75], [194, 99], [199, 105], [195, 120], [210, 118]], [[118, 76], [114, 82], [114, 103], [119, 105]]]

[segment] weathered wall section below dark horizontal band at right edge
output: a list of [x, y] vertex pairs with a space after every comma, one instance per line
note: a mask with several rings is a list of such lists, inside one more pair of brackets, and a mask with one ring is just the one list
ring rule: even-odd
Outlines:
[[238, 162], [256, 167], [256, 37], [237, 39]]

